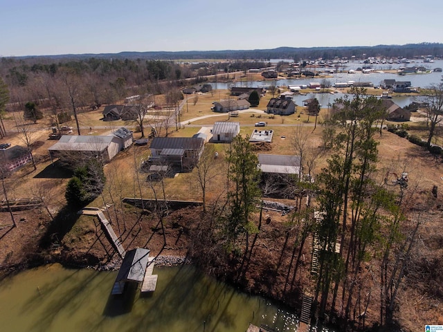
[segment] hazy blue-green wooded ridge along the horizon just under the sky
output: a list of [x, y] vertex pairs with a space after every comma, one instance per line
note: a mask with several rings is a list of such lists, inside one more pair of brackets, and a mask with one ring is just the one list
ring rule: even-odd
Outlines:
[[[73, 58], [118, 58], [118, 59], [334, 59], [334, 57], [355, 56], [357, 59], [363, 57], [406, 57], [413, 59], [431, 55], [432, 57], [443, 57], [443, 44], [420, 43], [406, 45], [377, 45], [377, 46], [341, 46], [341, 47], [279, 47], [273, 49], [257, 50], [190, 50], [181, 52], [121, 52], [103, 54], [82, 55], [47, 55], [53, 59]], [[22, 57], [23, 58], [23, 57]]]

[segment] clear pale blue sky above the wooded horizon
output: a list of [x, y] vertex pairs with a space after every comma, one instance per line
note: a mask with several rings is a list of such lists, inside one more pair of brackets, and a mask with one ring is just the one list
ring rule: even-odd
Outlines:
[[442, 0], [0, 0], [0, 56], [443, 43], [442, 21]]

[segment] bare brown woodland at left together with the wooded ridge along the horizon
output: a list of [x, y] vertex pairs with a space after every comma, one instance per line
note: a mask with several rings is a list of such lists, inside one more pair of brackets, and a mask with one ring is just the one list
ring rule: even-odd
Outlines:
[[[208, 75], [271, 66], [269, 59], [300, 60], [335, 57], [437, 57], [443, 44], [404, 46], [275, 48], [189, 52], [123, 52], [100, 55], [1, 57], [0, 78], [9, 91], [8, 111], [24, 110], [27, 102], [60, 113], [111, 104], [129, 95], [170, 95], [173, 104], [182, 86], [201, 84]], [[195, 61], [193, 61], [195, 59]], [[219, 59], [206, 62], [205, 59]], [[180, 61], [177, 61], [180, 60]], [[247, 60], [247, 61], [246, 61]], [[185, 63], [186, 62], [186, 63]], [[222, 77], [219, 77], [222, 79]]]

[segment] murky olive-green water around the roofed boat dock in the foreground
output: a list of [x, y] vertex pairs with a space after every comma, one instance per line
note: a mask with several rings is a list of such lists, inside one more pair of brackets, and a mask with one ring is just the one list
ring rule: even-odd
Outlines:
[[246, 331], [249, 322], [296, 331], [292, 313], [202, 277], [191, 266], [154, 268], [156, 291], [110, 291], [116, 272], [50, 265], [0, 283], [0, 331]]

